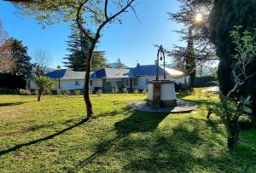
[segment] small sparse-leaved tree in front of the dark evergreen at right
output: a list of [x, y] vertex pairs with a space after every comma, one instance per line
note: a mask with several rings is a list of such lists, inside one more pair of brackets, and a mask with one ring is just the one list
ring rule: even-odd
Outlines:
[[221, 103], [216, 107], [212, 107], [209, 110], [208, 116], [211, 112], [217, 114], [225, 125], [228, 133], [228, 146], [233, 145], [238, 140], [239, 136], [239, 124], [238, 119], [241, 116], [243, 106], [250, 100], [250, 95], [247, 98], [236, 98], [236, 93], [247, 82], [249, 78], [252, 78], [256, 72], [248, 72], [247, 66], [251, 66], [251, 63], [255, 61], [256, 57], [256, 43], [251, 32], [243, 32], [240, 35], [241, 26], [234, 26], [235, 30], [231, 32], [230, 37], [233, 38], [234, 46], [236, 47], [236, 55], [233, 55], [236, 62], [232, 65], [232, 74], [235, 80], [234, 87], [230, 89], [227, 95], [220, 93]]

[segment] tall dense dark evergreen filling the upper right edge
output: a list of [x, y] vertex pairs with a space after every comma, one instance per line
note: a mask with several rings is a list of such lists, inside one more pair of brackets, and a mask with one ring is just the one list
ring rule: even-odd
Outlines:
[[[256, 1], [241, 0], [215, 0], [212, 13], [210, 15], [211, 41], [214, 43], [220, 63], [218, 66], [219, 87], [224, 95], [235, 86], [235, 78], [232, 74], [232, 64], [237, 60], [232, 55], [236, 52], [236, 47], [229, 37], [233, 26], [242, 26], [240, 32], [253, 32], [256, 28]], [[255, 72], [256, 61], [247, 66], [247, 72]], [[240, 92], [231, 96], [239, 99], [241, 95], [252, 96], [253, 115], [256, 115], [256, 78], [249, 78], [246, 84], [239, 87]]]

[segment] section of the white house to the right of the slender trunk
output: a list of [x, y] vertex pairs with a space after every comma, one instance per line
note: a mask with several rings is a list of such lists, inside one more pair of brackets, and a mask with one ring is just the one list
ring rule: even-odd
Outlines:
[[[166, 79], [172, 80], [181, 88], [189, 88], [190, 77], [184, 76], [183, 72], [166, 67]], [[113, 88], [119, 90], [148, 89], [148, 82], [155, 80], [157, 73], [156, 65], [140, 66], [129, 69], [103, 68], [90, 75], [90, 89], [102, 92], [112, 92]], [[159, 79], [164, 79], [164, 67], [159, 66]]]

